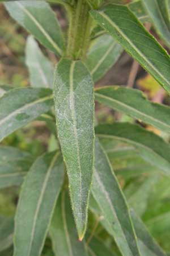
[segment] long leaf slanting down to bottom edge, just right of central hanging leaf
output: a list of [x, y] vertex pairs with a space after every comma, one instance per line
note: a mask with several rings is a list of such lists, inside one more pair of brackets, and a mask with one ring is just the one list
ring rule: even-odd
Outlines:
[[114, 175], [111, 164], [99, 141], [95, 143], [95, 173], [92, 195], [100, 206], [103, 216], [118, 248], [124, 256], [141, 255], [138, 250], [128, 205]]

